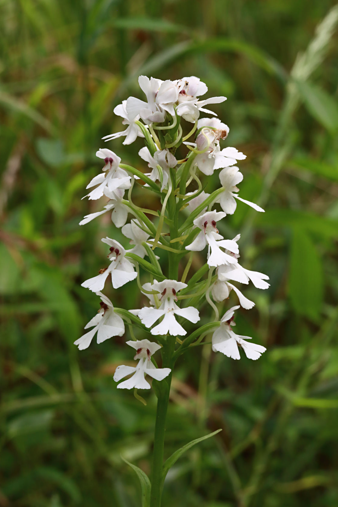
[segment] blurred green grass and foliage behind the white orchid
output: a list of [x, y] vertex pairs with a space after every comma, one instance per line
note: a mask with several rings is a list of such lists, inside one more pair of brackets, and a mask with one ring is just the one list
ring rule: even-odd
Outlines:
[[[223, 431], [177, 462], [163, 505], [338, 505], [338, 8], [2, 0], [0, 26], [0, 506], [140, 505], [120, 455], [149, 473], [156, 399], [145, 393], [145, 407], [112, 380], [131, 359], [128, 329], [85, 351], [73, 345], [97, 310], [80, 284], [104, 263], [100, 238], [124, 241], [109, 216], [78, 226], [103, 204], [81, 197], [100, 147], [145, 169], [140, 139], [101, 141], [123, 129], [112, 110], [141, 98], [140, 74], [196, 75], [208, 96], [228, 97], [215, 108], [230, 126], [223, 146], [247, 155], [240, 195], [266, 213], [239, 203], [222, 232], [240, 231], [242, 264], [271, 279], [268, 291], [245, 288], [256, 306], [237, 319], [267, 346], [258, 361], [204, 345], [177, 364], [166, 457]], [[218, 184], [215, 174], [208, 189]], [[157, 209], [145, 192], [135, 202]], [[134, 282], [105, 293], [141, 304]]]

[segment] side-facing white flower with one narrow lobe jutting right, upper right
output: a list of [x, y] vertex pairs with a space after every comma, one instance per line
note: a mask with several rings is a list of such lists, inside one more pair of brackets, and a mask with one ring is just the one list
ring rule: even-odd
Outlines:
[[238, 167], [226, 167], [225, 169], [222, 169], [219, 173], [219, 180], [223, 187], [223, 192], [218, 196], [217, 202], [219, 202], [222, 210], [224, 213], [227, 213], [229, 215], [232, 215], [235, 212], [237, 202], [236, 199], [239, 201], [244, 202], [245, 204], [248, 204], [256, 211], [264, 212], [264, 209], [262, 209], [257, 204], [254, 204], [253, 202], [246, 201], [245, 199], [242, 199], [238, 196], [238, 194], [235, 194], [234, 192], [239, 192], [239, 189], [237, 188], [237, 185], [242, 181], [243, 174], [239, 171]]

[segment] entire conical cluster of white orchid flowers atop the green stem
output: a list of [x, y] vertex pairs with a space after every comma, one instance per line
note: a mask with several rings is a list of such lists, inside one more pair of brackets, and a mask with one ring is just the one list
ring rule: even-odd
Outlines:
[[[139, 156], [151, 171], [142, 173], [122, 164], [114, 152], [106, 148], [98, 150], [96, 156], [103, 159], [104, 166], [102, 172], [87, 186], [87, 189], [93, 190], [86, 197], [97, 200], [106, 196], [108, 202], [102, 211], [88, 214], [80, 222], [80, 225], [87, 224], [110, 211], [112, 223], [117, 228], [122, 228], [123, 236], [134, 246], [125, 249], [115, 239], [102, 238], [109, 247], [109, 264], [101, 269], [97, 276], [82, 283], [83, 287], [89, 288], [100, 297], [100, 309], [85, 327], [92, 328], [91, 331], [74, 342], [79, 349], [85, 349], [96, 333], [97, 343], [113, 336], [123, 336], [124, 320], [128, 323], [132, 321], [142, 333], [148, 332], [158, 337], [159, 343], [148, 339], [127, 342], [136, 350], [134, 359], [138, 359], [138, 364], [136, 367], [119, 366], [114, 375], [114, 380], [118, 382], [133, 374], [118, 385], [119, 388], [127, 389], [149, 389], [145, 374], [156, 380], [162, 380], [170, 374], [171, 368], [165, 364], [164, 368], [157, 368], [154, 358], [152, 360], [153, 354], [172, 340], [174, 347], [171, 347], [171, 357], [181, 350], [186, 350], [187, 346], [193, 343], [190, 337], [185, 338], [186, 343], [178, 337], [187, 333], [184, 329], [186, 320], [193, 323], [200, 320], [196, 306], [201, 307], [208, 302], [217, 315], [217, 308], [210, 295], [215, 302], [221, 302], [228, 299], [230, 292], [234, 291], [240, 306], [249, 309], [254, 303], [232, 282], [248, 284], [251, 280], [257, 288], [265, 289], [269, 286], [265, 281], [268, 279], [267, 275], [247, 270], [239, 264], [240, 235], [233, 239], [224, 239], [217, 229], [217, 222], [223, 220], [227, 214], [235, 212], [237, 200], [257, 211], [264, 211], [238, 195], [237, 185], [242, 181], [243, 174], [235, 164], [238, 160], [245, 159], [245, 155], [235, 148], [220, 148], [220, 141], [227, 138], [229, 127], [217, 118], [200, 119], [201, 112], [215, 115], [205, 109], [207, 104], [223, 102], [226, 97], [201, 100], [200, 96], [208, 89], [194, 76], [177, 81], [161, 81], [140, 76], [138, 82], [145, 100], [129, 97], [115, 107], [115, 114], [123, 118], [122, 123], [127, 125], [127, 128], [103, 139], [112, 140], [125, 136], [124, 144], [130, 144], [137, 137], [143, 138], [145, 146], [139, 150]], [[193, 124], [188, 124], [189, 133], [185, 136], [182, 120]], [[186, 140], [193, 136], [193, 140]], [[185, 156], [181, 159], [176, 156], [179, 147], [188, 152], [185, 151]], [[202, 177], [209, 176], [217, 169], [221, 169], [221, 187], [212, 194], [205, 193], [199, 178], [200, 173]], [[162, 206], [158, 214], [154, 210], [140, 208], [132, 203], [131, 191], [135, 182], [139, 184], [141, 180], [145, 184], [140, 186], [144, 194], [153, 191], [160, 197]], [[193, 192], [188, 191], [190, 184], [195, 187]], [[126, 190], [128, 198], [125, 197]], [[221, 211], [212, 209], [214, 206], [219, 206]], [[129, 213], [133, 218], [127, 224]], [[149, 214], [156, 215], [157, 220], [152, 222]], [[206, 246], [205, 267], [194, 273], [185, 283], [192, 265], [192, 252], [202, 251]], [[167, 250], [168, 270], [165, 266], [161, 267], [160, 257], [153, 253], [155, 248], [158, 252]], [[185, 262], [185, 266], [182, 263], [179, 281], [179, 263], [186, 256], [189, 256], [189, 260]], [[139, 280], [140, 267], [151, 277], [151, 281], [142, 286]], [[203, 279], [207, 272], [207, 278]], [[115, 309], [111, 301], [101, 293], [109, 274], [114, 289], [136, 279], [141, 293], [149, 299], [149, 306], [129, 312]], [[185, 304], [189, 301], [192, 304]], [[217, 316], [215, 321], [210, 319], [200, 328], [200, 336], [203, 335], [205, 326], [210, 324], [208, 329], [213, 330], [214, 351], [239, 359], [239, 348], [242, 348], [247, 357], [257, 359], [266, 350], [265, 347], [247, 342], [250, 337], [236, 335], [232, 330], [235, 325], [234, 312], [240, 306], [226, 311], [220, 321], [217, 321]], [[196, 332], [192, 336], [194, 340]], [[167, 361], [167, 364], [169, 363]], [[170, 366], [172, 364], [170, 363]]]

